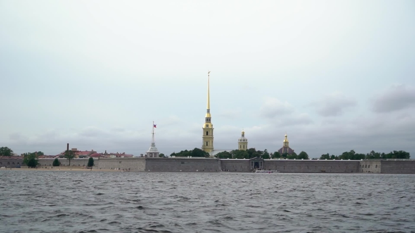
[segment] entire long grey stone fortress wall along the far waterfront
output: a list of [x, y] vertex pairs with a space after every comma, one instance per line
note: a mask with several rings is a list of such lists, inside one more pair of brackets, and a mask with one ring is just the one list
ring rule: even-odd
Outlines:
[[[39, 159], [39, 167], [53, 166], [54, 159]], [[59, 159], [61, 166], [69, 167], [69, 160]], [[23, 159], [0, 158], [0, 167], [22, 166]], [[70, 167], [84, 167], [88, 159], [72, 159]], [[386, 173], [415, 174], [415, 160], [263, 160], [263, 168], [280, 172], [298, 173]], [[94, 169], [124, 169], [129, 171], [166, 172], [251, 172], [249, 159], [215, 158], [99, 158]]]

